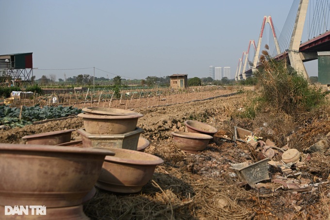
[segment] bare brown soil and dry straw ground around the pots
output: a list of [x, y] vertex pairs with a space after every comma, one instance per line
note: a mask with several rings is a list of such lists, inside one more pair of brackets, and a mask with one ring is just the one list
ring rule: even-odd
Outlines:
[[[299, 178], [292, 178], [289, 173], [268, 166], [271, 180], [253, 187], [243, 186], [239, 173], [230, 169], [229, 164], [254, 163], [260, 159], [250, 145], [232, 140], [234, 126], [252, 131], [267, 122], [268, 128], [273, 131], [269, 137], [278, 148], [288, 144], [287, 148], [295, 147], [300, 151], [330, 132], [329, 109], [325, 109], [323, 115], [307, 114], [294, 122], [288, 117], [279, 118], [277, 124], [282, 123], [282, 128], [272, 127], [275, 123], [270, 112], [266, 112], [264, 118], [255, 120], [232, 118], [232, 113], [240, 111], [244, 103], [251, 99], [249, 92], [219, 97], [234, 92], [205, 91], [199, 92], [199, 97], [192, 93], [166, 97], [167, 101], [164, 97], [163, 100], [161, 97], [145, 98], [139, 102], [132, 100], [130, 105], [112, 105], [133, 109], [144, 115], [139, 119], [138, 127], [144, 129], [142, 136], [150, 141], [146, 152], [161, 157], [165, 162], [156, 168], [152, 181], [140, 193], [124, 195], [97, 189], [94, 198], [84, 204], [85, 214], [93, 220], [329, 219], [329, 151], [310, 154], [312, 159], [303, 168], [294, 169], [301, 172]], [[211, 97], [217, 98], [208, 100]], [[103, 103], [100, 103], [99, 106], [102, 106]], [[92, 106], [97, 104], [93, 102]], [[109, 102], [104, 102], [105, 106], [107, 104]], [[214, 139], [202, 152], [184, 153], [173, 143], [170, 133], [183, 131], [184, 121], [188, 119], [203, 121], [218, 129]], [[282, 134], [285, 126], [292, 128], [291, 133]], [[75, 117], [27, 125], [0, 131], [0, 142], [24, 143], [21, 139], [24, 135], [82, 127], [82, 119]], [[74, 132], [72, 139], [80, 139], [78, 133]], [[280, 161], [281, 158], [277, 156], [273, 160]], [[298, 191], [278, 184], [274, 188], [272, 181], [276, 179], [301, 188], [312, 187]]]

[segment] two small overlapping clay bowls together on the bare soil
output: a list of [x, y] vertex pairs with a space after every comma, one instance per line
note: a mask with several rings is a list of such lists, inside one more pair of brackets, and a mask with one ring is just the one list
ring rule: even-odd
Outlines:
[[194, 120], [184, 122], [184, 132], [172, 132], [174, 144], [184, 152], [196, 153], [204, 150], [217, 129]]

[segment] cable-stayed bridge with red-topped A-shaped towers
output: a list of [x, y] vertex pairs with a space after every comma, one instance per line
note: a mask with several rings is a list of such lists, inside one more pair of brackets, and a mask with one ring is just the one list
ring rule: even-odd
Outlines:
[[[308, 17], [308, 23], [306, 22]], [[276, 59], [286, 59], [287, 62], [308, 78], [308, 73], [303, 62], [316, 60], [318, 52], [330, 51], [330, 2], [329, 0], [293, 0], [289, 15], [278, 36], [272, 18], [264, 16], [258, 39], [249, 40], [247, 51], [242, 53], [238, 60], [235, 80], [247, 79], [252, 72], [260, 65], [259, 57], [263, 43], [265, 27], [270, 26], [272, 41], [268, 46], [268, 54]], [[308, 40], [302, 42], [304, 26], [307, 26]], [[305, 30], [306, 32], [306, 30]], [[265, 45], [265, 44], [264, 44]], [[251, 50], [253, 49], [253, 50]], [[252, 58], [249, 59], [249, 57]]]

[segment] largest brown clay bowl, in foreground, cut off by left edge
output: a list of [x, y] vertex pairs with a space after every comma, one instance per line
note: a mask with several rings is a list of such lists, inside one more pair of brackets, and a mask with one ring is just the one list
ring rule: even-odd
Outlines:
[[75, 206], [91, 193], [107, 149], [0, 144], [0, 205]]

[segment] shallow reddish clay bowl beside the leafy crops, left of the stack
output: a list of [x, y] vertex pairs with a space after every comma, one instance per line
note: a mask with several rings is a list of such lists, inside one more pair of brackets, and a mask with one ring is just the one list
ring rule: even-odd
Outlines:
[[71, 133], [75, 129], [46, 132], [35, 135], [26, 135], [22, 139], [26, 139], [26, 144], [42, 144], [42, 145], [58, 145], [71, 140]]

